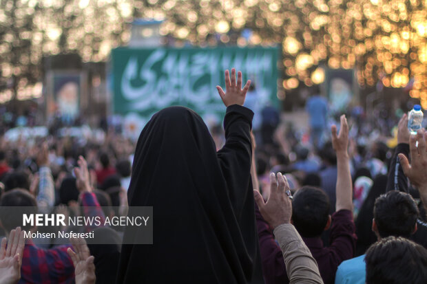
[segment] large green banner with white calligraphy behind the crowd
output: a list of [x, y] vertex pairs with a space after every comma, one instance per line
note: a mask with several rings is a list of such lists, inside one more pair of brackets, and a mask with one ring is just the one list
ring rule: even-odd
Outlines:
[[278, 54], [277, 47], [117, 48], [112, 50], [112, 112], [135, 121], [137, 129], [171, 105], [194, 109], [206, 122], [221, 122], [225, 106], [215, 86], [224, 87], [224, 70], [231, 67], [243, 72], [244, 82], [254, 82], [259, 107], [278, 106]]

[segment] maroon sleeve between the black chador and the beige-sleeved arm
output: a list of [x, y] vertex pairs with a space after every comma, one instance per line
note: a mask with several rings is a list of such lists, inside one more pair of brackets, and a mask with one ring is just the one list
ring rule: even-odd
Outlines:
[[255, 215], [265, 284], [287, 284], [289, 279], [284, 266], [282, 250], [275, 242], [273, 232], [269, 224], [262, 218], [257, 205], [255, 205]]

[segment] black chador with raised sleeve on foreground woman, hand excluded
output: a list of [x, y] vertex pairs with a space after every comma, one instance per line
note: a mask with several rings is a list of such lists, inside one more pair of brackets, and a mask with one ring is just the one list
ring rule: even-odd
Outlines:
[[129, 206], [153, 206], [154, 244], [123, 245], [117, 283], [253, 281], [260, 266], [249, 173], [252, 117], [245, 107], [227, 108], [226, 143], [218, 152], [191, 109], [168, 107], [147, 123], [127, 197]]

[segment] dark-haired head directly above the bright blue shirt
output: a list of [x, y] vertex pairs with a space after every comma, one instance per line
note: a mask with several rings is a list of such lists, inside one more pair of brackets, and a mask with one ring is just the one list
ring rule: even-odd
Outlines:
[[391, 190], [375, 200], [374, 219], [382, 238], [410, 237], [418, 216], [417, 204], [408, 193]]

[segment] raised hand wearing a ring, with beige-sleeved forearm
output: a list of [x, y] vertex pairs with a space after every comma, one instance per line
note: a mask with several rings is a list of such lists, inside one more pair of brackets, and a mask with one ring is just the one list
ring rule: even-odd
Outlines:
[[258, 192], [253, 196], [262, 217], [269, 223], [282, 250], [289, 283], [323, 283], [319, 268], [309, 248], [291, 223], [291, 190], [286, 177], [270, 174], [270, 195], [267, 203]]

